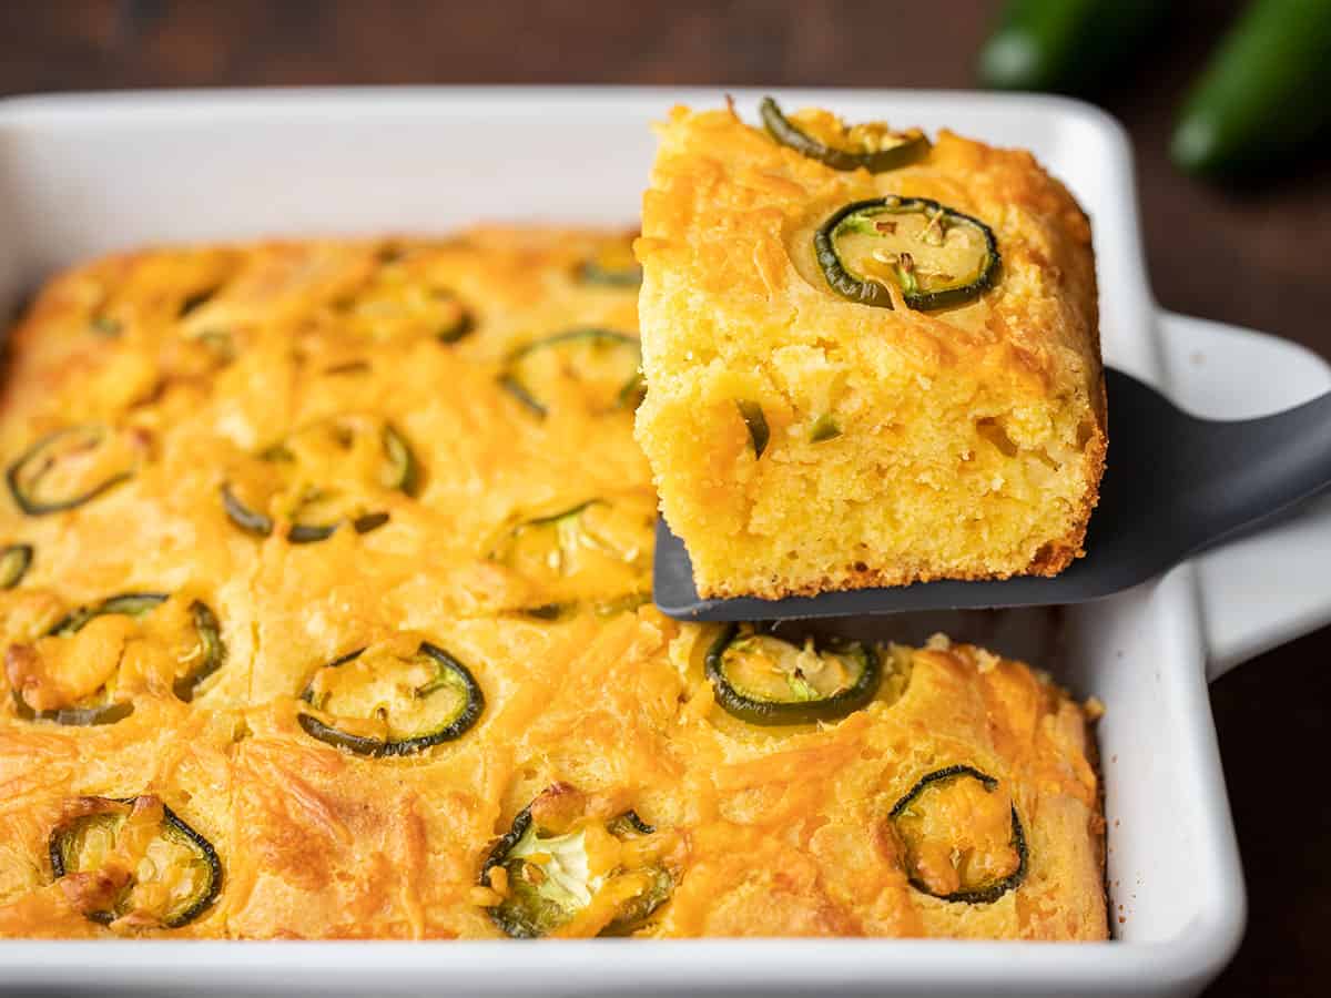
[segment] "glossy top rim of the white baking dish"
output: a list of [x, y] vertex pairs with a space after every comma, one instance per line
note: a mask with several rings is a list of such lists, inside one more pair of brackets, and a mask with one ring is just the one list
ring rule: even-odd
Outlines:
[[[595, 113], [606, 108], [651, 104], [715, 101], [723, 88], [632, 86], [409, 86], [409, 88], [290, 88], [290, 89], [198, 89], [177, 92], [108, 92], [25, 94], [0, 98], [0, 138], [11, 128], [80, 129], [150, 128], [178, 120], [182, 109], [214, 124], [244, 120], [246, 116], [281, 116], [298, 112], [325, 122], [363, 121], [366, 116], [418, 113], [441, 106], [469, 108], [487, 113], [530, 114], [534, 100], [550, 112]], [[934, 108], [969, 106], [1025, 109], [1032, 114], [1075, 120], [1105, 138], [1114, 149], [1107, 169], [1122, 182], [1125, 193], [1123, 232], [1127, 246], [1122, 265], [1137, 278], [1129, 289], [1154, 307], [1141, 251], [1138, 202], [1133, 189], [1131, 154], [1122, 126], [1105, 112], [1081, 101], [1046, 94], [990, 94], [965, 90], [869, 90], [869, 89], [789, 89], [731, 88], [743, 100], [773, 93], [789, 101], [839, 101], [881, 98]], [[391, 108], [386, 106], [391, 102]], [[933, 112], [930, 112], [933, 113]], [[945, 114], [942, 114], [945, 117]], [[3, 148], [3, 146], [0, 146]], [[1145, 337], [1153, 358], [1138, 358], [1125, 366], [1147, 381], [1159, 382], [1158, 343]], [[562, 987], [611, 991], [640, 985], [646, 975], [655, 987], [677, 990], [821, 987], [823, 990], [892, 990], [954, 986], [958, 990], [989, 989], [996, 979], [1009, 987], [1029, 985], [1028, 993], [1066, 994], [1087, 987], [1097, 993], [1139, 993], [1190, 990], [1199, 987], [1229, 961], [1242, 935], [1246, 902], [1234, 842], [1233, 824], [1225, 794], [1215, 731], [1206, 695], [1205, 661], [1198, 613], [1197, 578], [1183, 566], [1151, 583], [1151, 601], [1169, 608], [1163, 613], [1173, 632], [1171, 649], [1182, 651], [1182, 661], [1170, 669], [1174, 695], [1186, 708], [1183, 739], [1189, 765], [1203, 786], [1207, 802], [1209, 866], [1218, 870], [1226, 904], [1213, 906], [1194, 918], [1175, 938], [1162, 942], [1110, 941], [1098, 943], [1041, 942], [957, 942], [945, 939], [688, 939], [688, 941], [587, 941], [564, 942], [532, 949], [536, 959], [524, 961], [524, 973], [560, 975]], [[1189, 609], [1185, 609], [1189, 607]], [[1201, 846], [1199, 846], [1201, 848]], [[494, 987], [494, 955], [503, 941], [457, 942], [430, 946], [419, 942], [282, 942], [261, 945], [245, 941], [0, 941], [0, 987], [52, 986], [133, 987], [152, 981], [157, 986], [190, 987], [201, 978], [217, 974], [228, 986], [272, 987], [309, 986], [307, 971], [314, 950], [321, 978], [337, 975], [337, 986], [374, 983], [411, 987], [413, 979], [426, 979], [426, 971], [449, 967], [450, 983], [459, 991], [488, 993]], [[1014, 969], [1013, 947], [1021, 951]], [[366, 957], [366, 951], [373, 957]], [[836, 950], [833, 954], [832, 951]], [[595, 959], [590, 954], [595, 953]], [[528, 957], [531, 954], [527, 954]], [[687, 954], [687, 955], [685, 955]], [[683, 957], [683, 958], [681, 958]], [[940, 977], [940, 966], [946, 977]], [[51, 977], [60, 967], [59, 977]], [[393, 982], [382, 978], [386, 967], [399, 970]], [[594, 970], [592, 970], [594, 967]], [[152, 975], [152, 977], [149, 977]], [[401, 982], [401, 985], [398, 983]]]

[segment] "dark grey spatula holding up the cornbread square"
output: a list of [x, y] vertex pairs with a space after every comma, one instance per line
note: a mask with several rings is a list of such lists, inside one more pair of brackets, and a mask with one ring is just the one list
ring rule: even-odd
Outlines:
[[684, 544], [658, 520], [656, 605], [681, 620], [787, 620], [1085, 603], [1146, 582], [1331, 484], [1331, 394], [1276, 415], [1219, 422], [1183, 413], [1122, 371], [1105, 377], [1109, 467], [1086, 556], [1062, 575], [704, 600]]

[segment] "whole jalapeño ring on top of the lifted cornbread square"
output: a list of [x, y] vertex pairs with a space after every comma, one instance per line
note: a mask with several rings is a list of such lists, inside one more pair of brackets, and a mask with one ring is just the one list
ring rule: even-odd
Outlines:
[[890, 309], [888, 285], [910, 309], [978, 298], [998, 275], [998, 244], [978, 218], [922, 197], [855, 201], [813, 236], [828, 286], [843, 298]]

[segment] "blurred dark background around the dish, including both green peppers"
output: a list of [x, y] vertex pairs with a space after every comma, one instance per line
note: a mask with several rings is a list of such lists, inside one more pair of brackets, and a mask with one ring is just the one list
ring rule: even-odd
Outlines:
[[[740, 85], [1071, 90], [1131, 134], [1159, 303], [1331, 357], [1331, 0], [1258, 3], [1226, 45], [1250, 4], [0, 0], [0, 96], [571, 83], [716, 85], [717, 98]], [[1207, 994], [1324, 993], [1331, 794], [1315, 762], [1327, 757], [1331, 629], [1229, 673], [1211, 703], [1251, 912]]]

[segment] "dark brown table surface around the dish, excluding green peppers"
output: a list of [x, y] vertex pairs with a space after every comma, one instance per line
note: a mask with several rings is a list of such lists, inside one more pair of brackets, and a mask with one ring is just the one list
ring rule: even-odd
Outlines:
[[[964, 88], [994, 7], [0, 0], [0, 94], [451, 83]], [[1182, 90], [1236, 7], [1177, 3], [1158, 41], [1093, 97], [1135, 141], [1161, 303], [1331, 357], [1331, 156], [1227, 189], [1181, 177], [1165, 156]], [[1251, 906], [1215, 998], [1311, 995], [1331, 979], [1328, 653], [1331, 629], [1213, 687]]]

